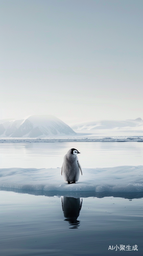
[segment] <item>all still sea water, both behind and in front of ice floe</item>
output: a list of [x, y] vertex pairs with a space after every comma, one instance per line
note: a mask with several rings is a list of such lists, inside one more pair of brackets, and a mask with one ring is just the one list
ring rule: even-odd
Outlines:
[[[137, 142], [3, 143], [1, 168], [61, 167], [71, 147], [81, 152], [82, 167], [143, 164]], [[1, 190], [0, 255], [141, 256], [142, 203], [135, 194], [72, 198]]]

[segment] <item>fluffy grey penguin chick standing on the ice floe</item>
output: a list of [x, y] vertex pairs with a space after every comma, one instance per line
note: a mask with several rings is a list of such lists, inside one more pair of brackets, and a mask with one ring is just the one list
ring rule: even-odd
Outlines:
[[80, 171], [82, 175], [82, 168], [77, 157], [78, 154], [80, 152], [76, 148], [71, 148], [64, 156], [61, 175], [63, 174], [63, 178], [68, 184], [78, 181]]

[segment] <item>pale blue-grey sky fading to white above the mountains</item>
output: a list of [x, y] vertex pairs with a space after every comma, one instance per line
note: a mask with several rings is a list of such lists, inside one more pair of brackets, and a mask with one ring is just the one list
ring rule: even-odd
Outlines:
[[0, 119], [143, 119], [142, 0], [0, 5]]

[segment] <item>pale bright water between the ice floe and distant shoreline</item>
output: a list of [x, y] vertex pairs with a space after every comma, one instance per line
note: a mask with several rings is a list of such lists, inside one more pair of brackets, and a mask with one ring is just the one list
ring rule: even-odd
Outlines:
[[82, 167], [143, 164], [141, 142], [0, 143], [1, 168], [61, 167], [69, 148], [75, 147]]

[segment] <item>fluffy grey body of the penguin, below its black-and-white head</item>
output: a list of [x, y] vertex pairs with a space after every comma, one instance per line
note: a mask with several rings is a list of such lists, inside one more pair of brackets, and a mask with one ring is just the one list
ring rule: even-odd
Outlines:
[[78, 159], [76, 157], [75, 161], [67, 159], [65, 157], [62, 166], [63, 178], [65, 181], [78, 181], [80, 176], [80, 169], [78, 165]]

